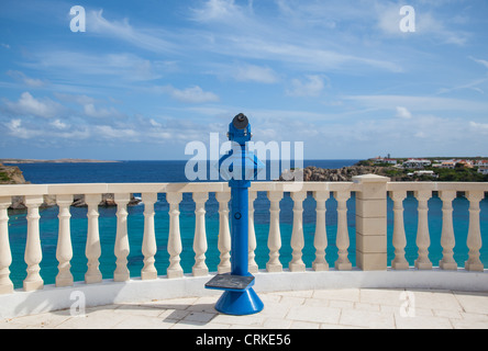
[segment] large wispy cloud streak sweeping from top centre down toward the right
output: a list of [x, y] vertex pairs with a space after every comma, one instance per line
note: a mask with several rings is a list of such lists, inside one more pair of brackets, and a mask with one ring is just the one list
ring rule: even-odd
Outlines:
[[[351, 46], [346, 47], [343, 43], [331, 39], [329, 24], [325, 25], [326, 32], [324, 32], [322, 25], [318, 29], [315, 25], [311, 25], [310, 21], [304, 21], [306, 16], [313, 13], [320, 23], [320, 15], [317, 13], [328, 13], [328, 10], [334, 5], [339, 5], [341, 9], [355, 8], [356, 3], [342, 5], [335, 2], [334, 5], [328, 5], [325, 2], [315, 1], [312, 5], [308, 5], [308, 10], [303, 12], [301, 11], [304, 5], [302, 2], [291, 4], [281, 1], [278, 3], [280, 8], [288, 5], [293, 9], [293, 13], [299, 13], [298, 18], [293, 15], [293, 19], [297, 18], [301, 24], [290, 26], [290, 22], [293, 20], [287, 15], [284, 16], [282, 13], [270, 18], [262, 15], [257, 11], [256, 14], [249, 10], [249, 7], [239, 5], [234, 1], [209, 0], [199, 9], [193, 9], [193, 18], [208, 26], [213, 25], [213, 27], [211, 32], [204, 29], [199, 31], [199, 38], [208, 37], [209, 39], [200, 41], [195, 45], [231, 57], [291, 64], [306, 68], [308, 71], [325, 71], [344, 69], [345, 67], [351, 70], [351, 68], [357, 69], [364, 66], [386, 71], [402, 71], [402, 67], [385, 59], [385, 55], [376, 55], [375, 57], [368, 52], [369, 57], [365, 57], [363, 53], [352, 50]], [[361, 19], [361, 11], [348, 10], [346, 12], [354, 12], [355, 14], [352, 15], [354, 20]], [[335, 10], [333, 13], [340, 15], [341, 11]], [[365, 16], [364, 13], [363, 16]], [[222, 23], [225, 27], [221, 27]], [[207, 35], [204, 35], [206, 33]], [[337, 35], [342, 34], [337, 33]]]

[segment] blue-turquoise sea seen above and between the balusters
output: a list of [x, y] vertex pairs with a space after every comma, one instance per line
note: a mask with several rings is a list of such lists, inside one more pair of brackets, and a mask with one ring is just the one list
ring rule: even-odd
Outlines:
[[[308, 160], [304, 167], [315, 166], [320, 168], [342, 168], [352, 166], [358, 160]], [[31, 163], [16, 165], [23, 171], [27, 181], [34, 184], [53, 183], [147, 183], [147, 182], [187, 182], [185, 177], [186, 161], [122, 161], [117, 163]], [[210, 169], [210, 165], [208, 169]], [[269, 167], [269, 162], [268, 162]], [[291, 165], [293, 167], [293, 165]], [[269, 174], [268, 174], [268, 180]], [[136, 196], [138, 194], [135, 194]], [[413, 265], [417, 259], [415, 235], [417, 235], [417, 200], [411, 195], [404, 201], [404, 225], [407, 234], [407, 260]], [[469, 203], [465, 197], [457, 197], [454, 201], [454, 229], [456, 236], [456, 247], [454, 258], [459, 267], [468, 258], [466, 239], [469, 224]], [[488, 199], [481, 201], [481, 235], [488, 239]], [[292, 207], [293, 202], [289, 194], [285, 194], [280, 203], [280, 230], [281, 250], [280, 261], [284, 268], [288, 267], [291, 260], [290, 238], [292, 230]], [[308, 196], [303, 202], [303, 233], [306, 247], [303, 249], [303, 261], [307, 267], [311, 267], [314, 260], [313, 236], [315, 231], [315, 201]], [[347, 223], [351, 238], [350, 260], [355, 264], [355, 197], [347, 202]], [[215, 272], [219, 264], [218, 234], [219, 234], [219, 204], [213, 193], [206, 204], [206, 226], [208, 239], [207, 264], [210, 271]], [[331, 267], [337, 259], [337, 248], [335, 236], [337, 231], [336, 201], [330, 199], [326, 202], [326, 225], [329, 247], [326, 249], [326, 260]], [[131, 253], [129, 256], [129, 269], [131, 276], [140, 276], [143, 268], [142, 240], [144, 233], [144, 205], [129, 207], [129, 240]], [[167, 241], [169, 231], [169, 205], [165, 195], [158, 195], [155, 205], [155, 228], [156, 228], [156, 269], [159, 275], [166, 274], [169, 265], [169, 254], [167, 252]], [[113, 253], [117, 231], [115, 208], [100, 207], [100, 241], [102, 254], [100, 258], [100, 270], [104, 279], [110, 279], [115, 270], [115, 256]], [[195, 234], [195, 203], [191, 194], [184, 194], [180, 204], [180, 229], [181, 229], [181, 265], [186, 273], [191, 272], [195, 263], [193, 234]], [[41, 211], [41, 245], [43, 250], [43, 261], [41, 263], [41, 275], [45, 284], [54, 284], [57, 274], [56, 246], [58, 235], [58, 208], [51, 207]], [[26, 212], [9, 212], [9, 233], [13, 262], [11, 265], [11, 279], [15, 287], [22, 287], [22, 282], [26, 276], [26, 264], [24, 262], [24, 251], [26, 242]], [[87, 270], [87, 259], [85, 257], [87, 237], [87, 208], [71, 207], [71, 241], [74, 257], [71, 260], [71, 273], [75, 281], [84, 281]], [[434, 265], [442, 259], [441, 231], [442, 231], [442, 202], [434, 196], [429, 202], [429, 229], [431, 235], [430, 259]], [[266, 268], [269, 250], [267, 239], [269, 231], [269, 201], [265, 193], [259, 193], [255, 202], [255, 231], [257, 239], [256, 262], [260, 269]], [[388, 200], [388, 262], [393, 259], [393, 247], [391, 245], [393, 233], [392, 201]], [[481, 261], [488, 263], [488, 246], [481, 249]]]

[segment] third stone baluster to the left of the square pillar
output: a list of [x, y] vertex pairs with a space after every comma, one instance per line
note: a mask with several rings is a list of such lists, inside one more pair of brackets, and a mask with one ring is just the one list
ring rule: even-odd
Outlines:
[[291, 231], [291, 262], [289, 264], [291, 272], [304, 272], [306, 264], [302, 260], [302, 250], [304, 247], [303, 238], [303, 201], [307, 199], [307, 192], [291, 193], [293, 200], [293, 229]]

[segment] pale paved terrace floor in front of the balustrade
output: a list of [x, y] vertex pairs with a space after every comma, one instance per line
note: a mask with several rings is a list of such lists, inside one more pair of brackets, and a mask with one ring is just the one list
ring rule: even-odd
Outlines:
[[262, 293], [265, 309], [234, 317], [219, 314], [219, 295], [59, 310], [0, 320], [0, 329], [488, 329], [488, 293], [404, 290], [317, 290]]

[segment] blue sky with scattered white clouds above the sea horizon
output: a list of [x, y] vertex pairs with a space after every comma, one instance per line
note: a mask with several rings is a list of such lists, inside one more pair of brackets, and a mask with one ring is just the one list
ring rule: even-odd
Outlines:
[[2, 0], [0, 158], [186, 159], [241, 112], [306, 159], [488, 156], [487, 15], [486, 0]]

